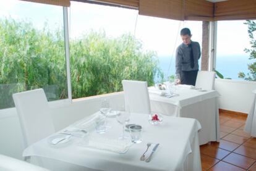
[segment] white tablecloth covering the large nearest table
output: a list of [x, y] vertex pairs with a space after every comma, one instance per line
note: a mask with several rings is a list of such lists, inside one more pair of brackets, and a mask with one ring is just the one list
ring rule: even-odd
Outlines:
[[[148, 123], [148, 115], [132, 114], [130, 123], [142, 125], [142, 143], [133, 144], [125, 154], [79, 146], [79, 138], [72, 137], [73, 141], [60, 148], [53, 148], [45, 138], [25, 149], [23, 156], [39, 159], [41, 166], [51, 170], [202, 170], [197, 120], [164, 116], [163, 123], [155, 126]], [[108, 125], [111, 128], [102, 136], [121, 136], [122, 126], [115, 118], [108, 119]], [[148, 142], [160, 146], [147, 163], [140, 156]]]

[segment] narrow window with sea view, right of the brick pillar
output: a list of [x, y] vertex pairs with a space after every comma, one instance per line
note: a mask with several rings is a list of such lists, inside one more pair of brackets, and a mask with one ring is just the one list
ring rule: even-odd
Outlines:
[[218, 22], [216, 70], [224, 78], [242, 80], [238, 77], [238, 73], [249, 73], [247, 64], [252, 63], [252, 60], [244, 49], [250, 48], [251, 45], [245, 22], [245, 20]]

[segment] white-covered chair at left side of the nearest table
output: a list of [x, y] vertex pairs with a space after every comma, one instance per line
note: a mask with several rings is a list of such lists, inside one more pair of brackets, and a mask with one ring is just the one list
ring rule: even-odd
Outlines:
[[25, 148], [55, 132], [43, 89], [12, 94], [19, 115]]

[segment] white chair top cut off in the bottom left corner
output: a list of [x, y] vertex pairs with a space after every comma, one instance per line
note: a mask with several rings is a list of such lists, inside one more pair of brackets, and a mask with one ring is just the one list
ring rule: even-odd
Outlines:
[[0, 154], [0, 170], [4, 171], [49, 171], [43, 167]]

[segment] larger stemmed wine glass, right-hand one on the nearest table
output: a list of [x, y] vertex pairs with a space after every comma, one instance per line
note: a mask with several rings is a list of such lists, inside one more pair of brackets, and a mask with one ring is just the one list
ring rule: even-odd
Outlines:
[[124, 106], [122, 106], [118, 114], [116, 115], [117, 122], [122, 124], [122, 136], [119, 137], [120, 140], [125, 140], [127, 138], [126, 136], [124, 136], [124, 130], [125, 130], [126, 123], [129, 122], [129, 119], [130, 119], [129, 107], [127, 107], [127, 109], [125, 110]]

